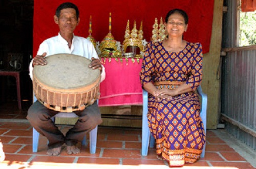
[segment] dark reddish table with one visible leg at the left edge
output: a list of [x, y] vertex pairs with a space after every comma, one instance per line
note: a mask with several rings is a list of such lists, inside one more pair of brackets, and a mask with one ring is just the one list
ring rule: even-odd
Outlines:
[[18, 100], [18, 108], [22, 109], [22, 100], [20, 97], [20, 71], [0, 71], [0, 76], [14, 76], [16, 78], [16, 88], [17, 88], [17, 100]]

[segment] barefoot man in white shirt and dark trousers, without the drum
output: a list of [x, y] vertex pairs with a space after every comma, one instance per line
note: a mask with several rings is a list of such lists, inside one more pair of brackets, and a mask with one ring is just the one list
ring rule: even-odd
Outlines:
[[[71, 53], [81, 55], [91, 59], [89, 68], [99, 69], [101, 71], [101, 81], [105, 78], [105, 70], [101, 65], [93, 44], [86, 38], [78, 37], [73, 34], [76, 26], [80, 22], [79, 11], [76, 5], [72, 3], [61, 4], [54, 15], [54, 21], [59, 26], [58, 36], [49, 38], [39, 46], [37, 55], [30, 63], [30, 76], [32, 78], [32, 69], [37, 65], [47, 65], [45, 57], [56, 53]], [[82, 140], [86, 133], [94, 129], [102, 122], [97, 103], [88, 106], [81, 111], [74, 111], [79, 117], [78, 121], [64, 136], [58, 127], [52, 122], [51, 117], [58, 111], [48, 109], [40, 102], [36, 101], [28, 110], [27, 119], [30, 124], [48, 140], [48, 155], [59, 155], [61, 146], [66, 143], [68, 154], [80, 153], [76, 144]]]

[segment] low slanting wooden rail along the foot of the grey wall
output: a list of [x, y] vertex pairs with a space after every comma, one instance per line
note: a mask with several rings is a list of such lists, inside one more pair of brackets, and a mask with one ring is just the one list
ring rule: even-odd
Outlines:
[[249, 128], [249, 127], [245, 126], [244, 124], [240, 123], [239, 121], [236, 121], [236, 120], [228, 117], [225, 114], [221, 114], [221, 119], [228, 122], [228, 123], [231, 123], [234, 126], [237, 126], [238, 128], [247, 132], [248, 134], [252, 135], [253, 137], [256, 137], [256, 131], [255, 130], [252, 130], [251, 128]]

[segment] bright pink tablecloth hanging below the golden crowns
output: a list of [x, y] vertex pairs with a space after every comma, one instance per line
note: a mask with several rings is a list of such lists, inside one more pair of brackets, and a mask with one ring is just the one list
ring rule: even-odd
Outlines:
[[142, 59], [102, 59], [106, 78], [100, 83], [99, 106], [142, 105], [139, 78]]

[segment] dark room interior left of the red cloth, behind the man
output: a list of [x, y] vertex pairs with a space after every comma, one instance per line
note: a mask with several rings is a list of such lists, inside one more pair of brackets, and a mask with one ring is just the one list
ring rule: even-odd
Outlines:
[[22, 119], [32, 104], [28, 65], [33, 48], [33, 4], [33, 0], [0, 1], [0, 70], [14, 72], [20, 78], [18, 82], [13, 74], [2, 73], [0, 76], [1, 119]]

